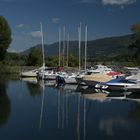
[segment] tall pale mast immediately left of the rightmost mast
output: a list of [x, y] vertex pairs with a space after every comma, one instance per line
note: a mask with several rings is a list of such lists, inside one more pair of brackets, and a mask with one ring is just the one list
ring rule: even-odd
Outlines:
[[80, 26], [78, 27], [78, 47], [79, 47], [79, 72], [81, 70], [81, 22], [80, 22]]

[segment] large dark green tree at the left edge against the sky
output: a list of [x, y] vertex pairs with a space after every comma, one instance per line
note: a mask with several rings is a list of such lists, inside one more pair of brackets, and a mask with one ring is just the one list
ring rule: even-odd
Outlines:
[[11, 29], [8, 22], [3, 16], [0, 16], [0, 60], [4, 59], [11, 40]]

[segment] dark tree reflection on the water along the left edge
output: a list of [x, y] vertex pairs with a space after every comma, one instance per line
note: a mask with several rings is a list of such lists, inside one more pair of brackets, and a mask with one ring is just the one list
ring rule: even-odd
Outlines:
[[6, 93], [7, 80], [0, 78], [0, 125], [4, 125], [11, 112], [11, 103]]

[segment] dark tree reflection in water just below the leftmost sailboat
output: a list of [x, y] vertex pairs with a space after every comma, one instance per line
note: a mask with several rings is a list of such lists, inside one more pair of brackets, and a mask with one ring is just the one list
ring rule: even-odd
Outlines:
[[27, 87], [30, 92], [30, 95], [33, 97], [35, 97], [36, 95], [41, 95], [42, 93], [42, 89], [39, 84], [27, 82]]

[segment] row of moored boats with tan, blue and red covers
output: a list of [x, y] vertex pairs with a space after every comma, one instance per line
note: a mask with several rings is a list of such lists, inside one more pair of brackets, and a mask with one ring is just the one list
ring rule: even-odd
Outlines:
[[[115, 72], [106, 66], [97, 66], [98, 70], [94, 69], [92, 73], [91, 69], [84, 73], [78, 73], [66, 72], [64, 69], [56, 70], [48, 67], [45, 69], [40, 68], [32, 72], [35, 72], [35, 77], [38, 80], [55, 80], [56, 84], [86, 85], [103, 90], [140, 91], [140, 71], [136, 74], [125, 76], [125, 74]], [[32, 72], [28, 72], [28, 75], [26, 76], [34, 76]]]

